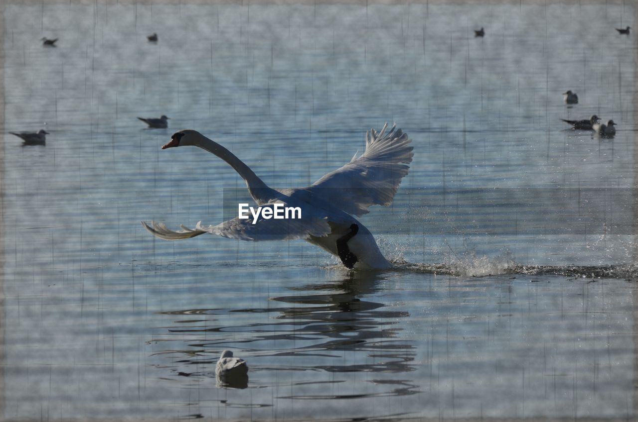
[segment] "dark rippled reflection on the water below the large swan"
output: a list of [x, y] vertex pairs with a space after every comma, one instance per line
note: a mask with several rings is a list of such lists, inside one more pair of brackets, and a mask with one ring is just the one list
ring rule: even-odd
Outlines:
[[[197, 349], [182, 351], [186, 359], [177, 363], [199, 368], [204, 365], [207, 370], [193, 376], [213, 377], [216, 356], [223, 349], [232, 348], [251, 361], [253, 375], [250, 383], [247, 382], [251, 388], [281, 387], [281, 380], [286, 379], [285, 385], [304, 385], [304, 391], [313, 391], [309, 396], [297, 395], [297, 389], [290, 395], [291, 390], [286, 390], [287, 394], [279, 398], [346, 398], [332, 393], [326, 395], [329, 389], [322, 384], [352, 382], [350, 376], [339, 379], [334, 374], [353, 372], [375, 374], [367, 380], [371, 387], [357, 388], [366, 392], [363, 397], [418, 393], [415, 382], [406, 376], [417, 368], [415, 346], [398, 335], [403, 330], [399, 324], [409, 316], [408, 312], [387, 310], [385, 303], [366, 300], [366, 296], [382, 289], [382, 280], [383, 275], [379, 273], [349, 273], [341, 280], [290, 287], [297, 293], [294, 295], [269, 298], [281, 306], [165, 312], [215, 316], [214, 326], [207, 323], [189, 327], [182, 321], [179, 326], [169, 328], [170, 333], [177, 336], [188, 335], [189, 347]], [[221, 303], [221, 300], [213, 298], [212, 302]], [[258, 314], [269, 314], [269, 317], [257, 317]], [[226, 324], [234, 321], [238, 324]], [[242, 324], [242, 321], [248, 322]], [[197, 341], [199, 336], [202, 341]], [[183, 338], [174, 340], [181, 342]], [[165, 353], [174, 355], [175, 352], [174, 349]], [[325, 372], [333, 375], [325, 375]], [[403, 375], [397, 377], [397, 374]], [[245, 388], [237, 383], [218, 386]]]

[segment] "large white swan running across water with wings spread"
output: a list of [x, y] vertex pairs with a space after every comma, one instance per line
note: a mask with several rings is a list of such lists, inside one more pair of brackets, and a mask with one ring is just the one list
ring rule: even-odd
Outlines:
[[[401, 179], [408, 174], [412, 162], [412, 140], [396, 124], [389, 131], [387, 123], [380, 132], [371, 129], [366, 135], [366, 150], [352, 157], [350, 163], [327, 173], [314, 184], [299, 189], [275, 190], [268, 187], [253, 170], [232, 152], [201, 133], [185, 129], [176, 132], [168, 149], [192, 145], [215, 154], [226, 161], [244, 179], [248, 191], [260, 208], [274, 208], [276, 204], [300, 207], [301, 219], [259, 219], [256, 224], [248, 219], [235, 217], [216, 226], [195, 229], [181, 226], [182, 231], [172, 231], [164, 224], [142, 221], [145, 229], [167, 240], [186, 239], [211, 233], [241, 240], [292, 240], [304, 239], [323, 250], [339, 256], [346, 266], [362, 269], [392, 268], [376, 244], [369, 229], [354, 216], [367, 214], [371, 205], [390, 205]], [[263, 215], [263, 213], [262, 213]], [[357, 229], [353, 228], [356, 224]], [[349, 236], [352, 235], [352, 236]], [[338, 242], [345, 239], [346, 252], [353, 254], [348, 261], [341, 258]], [[349, 264], [351, 263], [352, 264]]]

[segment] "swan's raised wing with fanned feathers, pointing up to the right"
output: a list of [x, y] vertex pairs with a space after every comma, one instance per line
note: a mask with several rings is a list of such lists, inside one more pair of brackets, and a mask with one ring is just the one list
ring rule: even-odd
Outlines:
[[366, 134], [362, 156], [355, 155], [350, 163], [295, 194], [306, 201], [325, 201], [353, 215], [367, 214], [371, 205], [390, 205], [401, 179], [410, 170], [413, 154], [408, 135], [396, 125], [385, 133], [387, 126], [381, 132], [371, 129]]

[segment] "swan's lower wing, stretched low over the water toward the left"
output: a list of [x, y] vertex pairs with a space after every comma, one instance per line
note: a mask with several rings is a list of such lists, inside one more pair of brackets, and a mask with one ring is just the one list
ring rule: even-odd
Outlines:
[[[261, 205], [258, 208], [273, 208], [274, 203]], [[265, 219], [260, 214], [259, 219], [253, 224], [253, 217], [248, 219], [234, 219], [224, 221], [216, 226], [202, 226], [201, 221], [197, 223], [195, 229], [181, 226], [182, 231], [172, 231], [164, 224], [142, 222], [142, 226], [153, 235], [166, 240], [179, 240], [191, 238], [204, 233], [219, 235], [231, 239], [239, 240], [292, 240], [306, 239], [309, 236], [322, 237], [329, 235], [330, 226], [327, 218], [322, 215], [313, 214], [312, 210], [302, 209], [302, 218], [299, 219]]]

